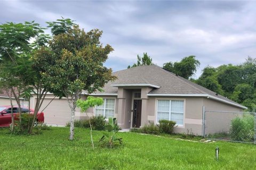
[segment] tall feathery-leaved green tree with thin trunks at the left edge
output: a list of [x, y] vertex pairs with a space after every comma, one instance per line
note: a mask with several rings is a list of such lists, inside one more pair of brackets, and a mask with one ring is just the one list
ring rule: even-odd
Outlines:
[[[22, 93], [26, 92], [30, 86], [37, 84], [34, 70], [31, 67], [30, 53], [33, 48], [30, 46], [29, 40], [31, 38], [36, 38], [43, 32], [43, 28], [34, 21], [17, 24], [7, 22], [0, 25], [1, 81], [5, 83], [6, 87], [11, 89], [19, 108], [21, 107], [19, 99]], [[41, 101], [41, 98], [37, 99], [37, 102]], [[37, 111], [39, 111], [37, 106], [38, 105], [35, 107], [33, 123]], [[21, 111], [21, 109], [19, 109], [19, 111]], [[19, 117], [21, 123], [21, 116]], [[31, 129], [29, 130], [30, 133], [32, 129], [33, 126], [31, 126]]]

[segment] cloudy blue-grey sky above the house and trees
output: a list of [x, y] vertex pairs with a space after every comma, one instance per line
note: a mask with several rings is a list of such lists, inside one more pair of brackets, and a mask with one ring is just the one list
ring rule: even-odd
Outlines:
[[[146, 52], [163, 66], [195, 55], [205, 66], [240, 64], [256, 57], [256, 1], [3, 1], [0, 24], [75, 20], [103, 31], [114, 52], [105, 65], [124, 70]], [[50, 30], [47, 30], [50, 33]]]

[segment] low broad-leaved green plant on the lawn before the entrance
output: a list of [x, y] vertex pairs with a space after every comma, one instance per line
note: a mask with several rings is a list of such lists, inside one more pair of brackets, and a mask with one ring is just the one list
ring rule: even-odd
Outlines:
[[106, 132], [103, 132], [103, 136], [99, 142], [103, 143], [103, 146], [107, 148], [113, 148], [115, 145], [121, 145], [123, 143], [122, 138], [117, 138], [116, 133], [119, 131], [116, 118], [109, 117], [108, 124], [105, 126]]

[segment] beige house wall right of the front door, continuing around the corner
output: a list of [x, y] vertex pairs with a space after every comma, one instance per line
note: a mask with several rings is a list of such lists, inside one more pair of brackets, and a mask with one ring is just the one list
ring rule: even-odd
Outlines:
[[[203, 106], [206, 111], [228, 111], [241, 112], [242, 109], [221, 103], [216, 100], [207, 99], [204, 97], [149, 97], [147, 109], [147, 121], [156, 123], [157, 120], [157, 99], [172, 99], [185, 101], [184, 123], [183, 126], [174, 128], [174, 133], [190, 133], [202, 135], [202, 116]], [[206, 133], [216, 133], [228, 131], [230, 128], [230, 121], [240, 114], [233, 113], [208, 113], [206, 112]]]

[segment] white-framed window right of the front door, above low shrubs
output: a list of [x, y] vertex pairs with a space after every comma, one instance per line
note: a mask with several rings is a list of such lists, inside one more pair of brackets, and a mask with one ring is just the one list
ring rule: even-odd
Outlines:
[[175, 121], [183, 125], [183, 100], [157, 100], [157, 122], [159, 120]]

